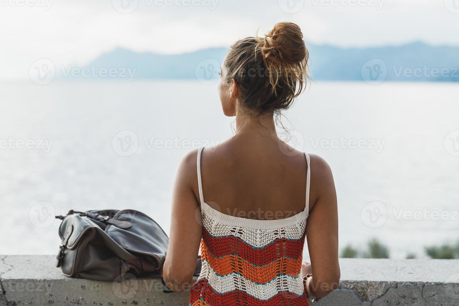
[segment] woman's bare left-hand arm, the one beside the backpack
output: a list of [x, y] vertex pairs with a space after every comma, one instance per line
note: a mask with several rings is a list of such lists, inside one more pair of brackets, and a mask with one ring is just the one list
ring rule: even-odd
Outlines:
[[197, 186], [196, 158], [197, 150], [185, 156], [174, 184], [168, 253], [162, 268], [164, 282], [173, 291], [189, 288], [201, 243], [201, 214], [193, 191], [193, 184]]

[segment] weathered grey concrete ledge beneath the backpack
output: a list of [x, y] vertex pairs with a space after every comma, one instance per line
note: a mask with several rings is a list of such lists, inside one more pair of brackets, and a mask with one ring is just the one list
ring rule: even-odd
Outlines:
[[[54, 256], [0, 256], [0, 306], [188, 305], [189, 293], [162, 292], [161, 280], [67, 278]], [[339, 289], [315, 305], [459, 306], [459, 260], [342, 259]]]

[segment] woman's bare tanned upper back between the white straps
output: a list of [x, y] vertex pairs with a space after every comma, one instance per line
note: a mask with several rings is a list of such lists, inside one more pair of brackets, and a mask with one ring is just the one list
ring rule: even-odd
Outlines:
[[302, 211], [308, 168], [304, 154], [256, 129], [248, 134], [203, 152], [206, 202], [224, 214], [249, 219], [282, 219]]

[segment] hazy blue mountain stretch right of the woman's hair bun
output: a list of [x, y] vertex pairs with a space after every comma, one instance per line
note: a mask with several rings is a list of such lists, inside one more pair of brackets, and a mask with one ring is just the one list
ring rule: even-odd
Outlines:
[[459, 47], [413, 43], [342, 49], [311, 45], [309, 53], [312, 76], [317, 80], [368, 80], [370, 72], [376, 77], [381, 68], [388, 81], [459, 82]]

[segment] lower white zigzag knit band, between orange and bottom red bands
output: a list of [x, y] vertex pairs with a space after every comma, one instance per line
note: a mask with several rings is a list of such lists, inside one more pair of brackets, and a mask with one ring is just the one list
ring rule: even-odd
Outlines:
[[259, 300], [269, 300], [280, 291], [284, 290], [288, 290], [297, 295], [302, 295], [304, 292], [301, 273], [297, 276], [297, 278], [282, 275], [274, 278], [269, 283], [256, 284], [236, 273], [231, 273], [223, 277], [218, 276], [212, 267], [209, 266], [207, 261], [202, 262], [202, 269], [207, 273], [201, 273], [198, 281], [203, 278], [207, 278], [207, 282], [220, 294], [233, 290], [241, 290]]

